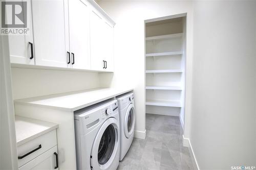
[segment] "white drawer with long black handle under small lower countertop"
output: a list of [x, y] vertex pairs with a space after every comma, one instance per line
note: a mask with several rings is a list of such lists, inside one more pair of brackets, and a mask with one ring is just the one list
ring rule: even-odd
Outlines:
[[17, 147], [18, 167], [57, 145], [56, 130], [41, 135]]

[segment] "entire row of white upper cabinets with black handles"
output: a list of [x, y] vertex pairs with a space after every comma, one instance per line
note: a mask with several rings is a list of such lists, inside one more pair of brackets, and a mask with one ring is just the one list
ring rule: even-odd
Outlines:
[[9, 36], [11, 63], [114, 71], [115, 23], [94, 1], [28, 2], [30, 34]]

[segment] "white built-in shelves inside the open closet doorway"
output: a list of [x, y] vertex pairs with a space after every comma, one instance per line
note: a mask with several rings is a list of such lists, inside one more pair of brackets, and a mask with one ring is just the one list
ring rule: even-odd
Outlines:
[[146, 113], [184, 122], [186, 17], [145, 23]]

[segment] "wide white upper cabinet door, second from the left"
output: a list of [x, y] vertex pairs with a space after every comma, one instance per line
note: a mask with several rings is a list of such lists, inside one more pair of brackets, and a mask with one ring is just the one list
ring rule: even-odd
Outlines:
[[68, 8], [65, 2], [32, 0], [36, 65], [69, 67]]

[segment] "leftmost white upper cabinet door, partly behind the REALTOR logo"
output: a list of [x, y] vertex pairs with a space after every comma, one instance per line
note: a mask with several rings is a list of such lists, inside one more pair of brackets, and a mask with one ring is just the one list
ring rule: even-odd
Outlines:
[[[31, 16], [31, 3], [28, 2], [28, 16], [29, 16], [29, 34], [27, 35], [9, 35], [9, 52], [11, 63], [30, 64], [34, 65], [35, 58], [32, 58], [31, 45], [33, 43], [33, 29], [32, 29], [32, 16]], [[33, 48], [32, 48], [33, 49]], [[30, 59], [31, 58], [31, 59]]]

